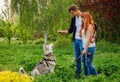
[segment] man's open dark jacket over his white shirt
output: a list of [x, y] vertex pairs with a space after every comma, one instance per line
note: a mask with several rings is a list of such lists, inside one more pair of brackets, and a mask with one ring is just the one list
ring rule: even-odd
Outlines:
[[70, 28], [68, 29], [68, 33], [73, 33], [73, 36], [72, 36], [73, 41], [75, 40], [75, 32], [76, 32], [75, 20], [76, 20], [76, 17], [75, 16], [72, 17]]

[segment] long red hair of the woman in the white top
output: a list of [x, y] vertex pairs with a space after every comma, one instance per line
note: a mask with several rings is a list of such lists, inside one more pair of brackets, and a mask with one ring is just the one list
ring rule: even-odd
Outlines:
[[85, 34], [86, 34], [86, 31], [87, 31], [87, 29], [88, 29], [88, 27], [89, 27], [89, 24], [92, 25], [93, 29], [95, 28], [95, 27], [94, 27], [94, 21], [93, 21], [92, 16], [90, 15], [89, 12], [84, 12], [84, 13], [81, 15], [81, 17], [82, 17], [82, 28], [81, 28], [81, 30], [84, 29], [84, 30], [85, 30], [85, 31], [84, 31]]

